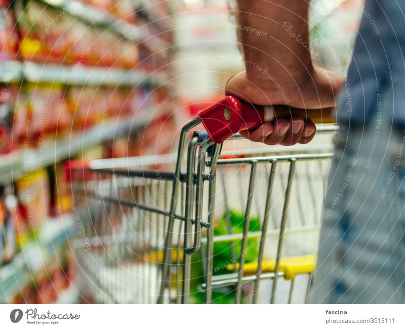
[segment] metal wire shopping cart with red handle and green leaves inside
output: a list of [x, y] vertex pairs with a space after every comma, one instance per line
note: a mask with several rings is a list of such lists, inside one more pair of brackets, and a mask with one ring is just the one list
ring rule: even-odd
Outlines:
[[[228, 96], [182, 128], [177, 156], [73, 166], [83, 296], [96, 303], [307, 302], [336, 127], [319, 128], [325, 137], [312, 146], [223, 149], [274, 112], [296, 114]], [[332, 112], [315, 113], [315, 122], [334, 121]], [[201, 122], [206, 129], [190, 138]]]

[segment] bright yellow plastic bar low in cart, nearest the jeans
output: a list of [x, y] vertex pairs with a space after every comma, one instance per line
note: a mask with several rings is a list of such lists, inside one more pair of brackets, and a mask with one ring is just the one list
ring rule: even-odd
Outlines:
[[[247, 263], [244, 265], [245, 275], [255, 275], [257, 271], [258, 263]], [[284, 273], [284, 278], [286, 280], [293, 280], [296, 275], [299, 274], [309, 274], [315, 270], [316, 266], [316, 255], [302, 255], [291, 258], [284, 258], [280, 260], [279, 272]], [[227, 266], [227, 270], [233, 271], [235, 265], [230, 264]], [[275, 260], [267, 261], [264, 260], [262, 263], [261, 273], [264, 272], [274, 272], [275, 270]]]

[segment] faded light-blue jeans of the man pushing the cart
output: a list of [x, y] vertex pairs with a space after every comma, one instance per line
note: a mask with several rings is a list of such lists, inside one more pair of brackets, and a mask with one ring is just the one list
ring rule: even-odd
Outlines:
[[366, 125], [340, 126], [311, 303], [405, 302], [405, 131], [384, 116], [389, 95]]

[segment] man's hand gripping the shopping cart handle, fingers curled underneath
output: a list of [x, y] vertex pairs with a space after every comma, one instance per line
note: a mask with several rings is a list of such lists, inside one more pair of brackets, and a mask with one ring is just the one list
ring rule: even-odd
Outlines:
[[[260, 74], [261, 72], [258, 72], [258, 75]], [[337, 93], [344, 81], [343, 77], [319, 67], [314, 67], [302, 81], [285, 79], [281, 82], [282, 85], [274, 83], [274, 80], [260, 81], [257, 78], [255, 80], [260, 86], [249, 81], [246, 78], [246, 71], [242, 71], [228, 81], [225, 93], [254, 104], [283, 104], [310, 111], [311, 108], [335, 106]], [[265, 122], [259, 128], [241, 131], [240, 134], [252, 141], [269, 145], [293, 145], [310, 142], [315, 132], [316, 127], [311, 121], [305, 122], [300, 117], [293, 117], [290, 120]]]

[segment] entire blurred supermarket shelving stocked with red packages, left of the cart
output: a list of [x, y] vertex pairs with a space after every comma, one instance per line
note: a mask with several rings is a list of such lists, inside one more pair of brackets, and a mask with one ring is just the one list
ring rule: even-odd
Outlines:
[[170, 111], [149, 118], [169, 97], [168, 16], [159, 1], [0, 0], [0, 302], [69, 301], [66, 167], [153, 148], [140, 130]]

